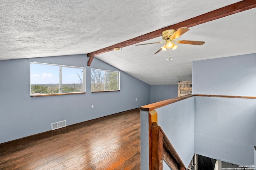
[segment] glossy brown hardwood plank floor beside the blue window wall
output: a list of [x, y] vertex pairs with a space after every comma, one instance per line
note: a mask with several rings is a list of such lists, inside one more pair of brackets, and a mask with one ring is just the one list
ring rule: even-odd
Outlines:
[[0, 170], [139, 170], [133, 109], [0, 144]]

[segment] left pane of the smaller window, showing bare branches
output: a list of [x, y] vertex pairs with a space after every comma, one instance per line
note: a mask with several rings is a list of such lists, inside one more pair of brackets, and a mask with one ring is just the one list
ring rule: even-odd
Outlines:
[[92, 92], [104, 91], [104, 70], [91, 69], [91, 90]]

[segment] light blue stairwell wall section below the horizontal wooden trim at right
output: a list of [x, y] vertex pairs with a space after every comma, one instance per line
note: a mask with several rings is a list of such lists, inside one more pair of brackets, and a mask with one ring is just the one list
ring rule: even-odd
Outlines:
[[254, 164], [256, 100], [195, 97], [195, 153], [238, 165]]

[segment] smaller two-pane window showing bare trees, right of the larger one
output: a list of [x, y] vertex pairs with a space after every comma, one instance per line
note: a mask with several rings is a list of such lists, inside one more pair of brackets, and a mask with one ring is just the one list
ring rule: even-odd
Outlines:
[[118, 71], [91, 69], [92, 92], [120, 90]]

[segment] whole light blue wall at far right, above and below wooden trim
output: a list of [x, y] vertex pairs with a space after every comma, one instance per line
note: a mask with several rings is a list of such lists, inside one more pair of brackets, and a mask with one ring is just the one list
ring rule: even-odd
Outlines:
[[[194, 94], [256, 96], [256, 54], [194, 61]], [[256, 100], [195, 98], [195, 152], [234, 164], [253, 164]]]

